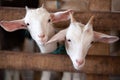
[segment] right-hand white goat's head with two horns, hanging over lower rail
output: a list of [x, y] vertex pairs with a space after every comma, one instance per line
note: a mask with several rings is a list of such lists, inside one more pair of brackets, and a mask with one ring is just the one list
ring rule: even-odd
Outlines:
[[119, 38], [100, 32], [93, 31], [92, 16], [86, 25], [77, 22], [70, 13], [71, 23], [67, 29], [61, 30], [47, 43], [65, 41], [67, 54], [69, 55], [75, 69], [80, 70], [85, 64], [85, 57], [92, 42], [113, 43]]

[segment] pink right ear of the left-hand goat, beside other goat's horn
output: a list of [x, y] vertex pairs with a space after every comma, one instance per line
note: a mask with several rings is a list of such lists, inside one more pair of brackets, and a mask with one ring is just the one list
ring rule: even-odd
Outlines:
[[73, 10], [67, 10], [67, 11], [60, 11], [56, 13], [51, 13], [51, 20], [53, 23], [59, 22], [59, 21], [66, 21], [69, 20], [69, 13], [73, 12]]

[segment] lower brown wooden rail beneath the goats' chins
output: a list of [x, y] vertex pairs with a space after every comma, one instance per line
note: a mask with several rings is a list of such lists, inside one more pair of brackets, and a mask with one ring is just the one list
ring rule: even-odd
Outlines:
[[120, 57], [87, 56], [85, 67], [81, 71], [73, 68], [67, 55], [29, 54], [22, 52], [0, 51], [1, 69], [30, 69], [85, 72], [87, 74], [120, 74]]

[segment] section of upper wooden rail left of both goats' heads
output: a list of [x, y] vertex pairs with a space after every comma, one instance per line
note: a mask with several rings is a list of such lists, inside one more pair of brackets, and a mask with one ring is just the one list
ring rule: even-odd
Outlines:
[[24, 8], [0, 7], [0, 20], [21, 19], [24, 16]]

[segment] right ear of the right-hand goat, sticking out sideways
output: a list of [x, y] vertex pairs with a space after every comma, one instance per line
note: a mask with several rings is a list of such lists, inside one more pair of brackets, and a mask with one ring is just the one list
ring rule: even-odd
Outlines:
[[119, 38], [117, 36], [110, 36], [107, 34], [94, 31], [94, 41], [103, 42], [103, 43], [114, 43], [118, 40]]

